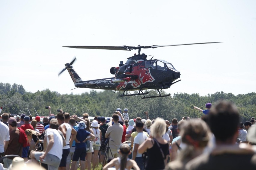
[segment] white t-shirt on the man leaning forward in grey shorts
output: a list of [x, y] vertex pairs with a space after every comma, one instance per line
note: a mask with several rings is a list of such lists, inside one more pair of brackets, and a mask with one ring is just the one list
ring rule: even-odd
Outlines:
[[63, 147], [63, 141], [62, 137], [60, 136], [59, 132], [56, 129], [48, 128], [45, 132], [47, 136], [47, 143], [49, 143], [49, 135], [53, 135], [54, 143], [53, 147], [50, 149], [48, 154], [55, 155], [59, 159], [62, 158], [62, 147]]

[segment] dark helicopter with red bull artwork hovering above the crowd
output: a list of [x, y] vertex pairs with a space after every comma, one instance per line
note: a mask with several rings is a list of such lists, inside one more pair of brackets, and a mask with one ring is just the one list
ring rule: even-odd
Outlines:
[[[181, 81], [177, 80], [180, 78], [180, 72], [174, 68], [172, 63], [165, 60], [159, 59], [147, 59], [147, 55], [141, 53], [142, 48], [158, 48], [166, 46], [177, 46], [177, 45], [195, 45], [195, 44], [209, 44], [218, 42], [202, 42], [202, 43], [191, 43], [191, 44], [176, 44], [176, 45], [152, 45], [152, 46], [63, 46], [69, 48], [85, 48], [85, 49], [105, 49], [105, 50], [138, 50], [138, 54], [127, 58], [126, 63], [120, 61], [119, 66], [111, 67], [110, 73], [114, 75], [111, 78], [102, 78], [96, 80], [83, 81], [81, 77], [74, 70], [72, 64], [75, 62], [76, 57], [70, 62], [65, 64], [65, 68], [58, 74], [60, 75], [66, 69], [71, 76], [76, 88], [89, 88], [89, 89], [104, 89], [123, 91], [124, 96], [143, 95], [142, 99], [145, 98], [158, 98], [167, 97], [171, 94], [161, 95], [163, 89], [170, 88], [173, 84]], [[177, 81], [176, 81], [177, 80]], [[143, 90], [155, 89], [158, 91], [157, 96], [145, 96], [149, 92], [143, 92]], [[128, 94], [128, 91], [139, 92], [136, 94]], [[160, 90], [160, 91], [159, 91]], [[125, 94], [126, 92], [126, 94]]]

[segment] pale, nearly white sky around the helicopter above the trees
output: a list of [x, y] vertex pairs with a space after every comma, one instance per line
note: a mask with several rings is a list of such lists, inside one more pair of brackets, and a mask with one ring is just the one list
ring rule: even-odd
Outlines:
[[68, 72], [74, 56], [83, 80], [112, 77], [109, 69], [134, 51], [65, 45], [218, 44], [142, 49], [173, 64], [181, 81], [166, 92], [255, 92], [256, 1], [0, 1], [1, 82], [27, 91], [81, 94]]

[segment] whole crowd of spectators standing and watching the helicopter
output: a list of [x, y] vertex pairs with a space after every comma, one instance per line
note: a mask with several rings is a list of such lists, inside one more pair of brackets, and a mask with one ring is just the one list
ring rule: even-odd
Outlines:
[[[206, 104], [201, 118], [129, 118], [120, 108], [111, 118], [82, 117], [60, 110], [42, 121], [3, 113], [0, 157], [6, 169], [41, 166], [49, 170], [256, 169], [255, 119], [240, 122], [237, 108], [221, 101]], [[90, 115], [93, 116], [93, 115]], [[22, 168], [21, 168], [22, 169]]]

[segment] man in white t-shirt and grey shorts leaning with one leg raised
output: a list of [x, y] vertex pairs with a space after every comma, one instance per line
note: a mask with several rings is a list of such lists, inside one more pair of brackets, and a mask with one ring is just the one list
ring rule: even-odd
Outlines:
[[57, 120], [50, 122], [50, 128], [45, 131], [44, 145], [47, 143], [45, 152], [31, 152], [30, 158], [32, 162], [42, 162], [48, 165], [48, 170], [57, 170], [62, 158], [63, 140], [59, 132]]

